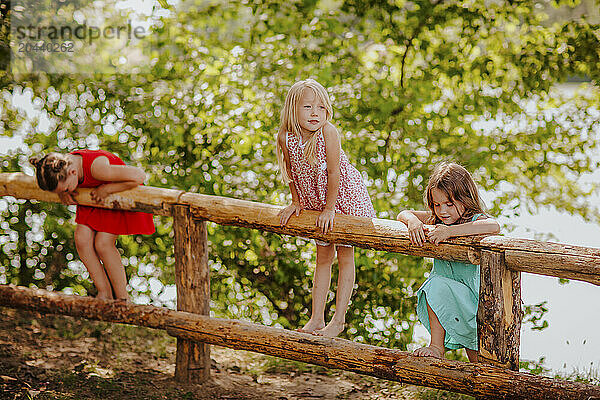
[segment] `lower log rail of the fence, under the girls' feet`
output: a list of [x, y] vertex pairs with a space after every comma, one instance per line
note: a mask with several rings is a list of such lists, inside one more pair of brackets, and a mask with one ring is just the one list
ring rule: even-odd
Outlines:
[[0, 285], [0, 305], [166, 329], [172, 335], [486, 399], [600, 398], [600, 387], [153, 306]]

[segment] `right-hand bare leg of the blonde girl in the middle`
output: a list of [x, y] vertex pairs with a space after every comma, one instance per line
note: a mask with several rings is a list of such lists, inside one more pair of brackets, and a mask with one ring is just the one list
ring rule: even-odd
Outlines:
[[356, 275], [354, 247], [337, 246], [337, 255], [339, 273], [338, 287], [335, 295], [335, 313], [325, 328], [315, 331], [315, 334], [327, 337], [336, 337], [344, 330], [346, 311], [352, 297]]

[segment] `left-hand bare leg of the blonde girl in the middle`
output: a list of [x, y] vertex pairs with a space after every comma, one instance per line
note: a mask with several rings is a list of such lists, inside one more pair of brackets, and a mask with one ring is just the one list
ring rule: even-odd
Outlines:
[[300, 332], [313, 333], [325, 327], [325, 302], [331, 283], [331, 264], [335, 256], [335, 245], [317, 245], [317, 266], [313, 277], [312, 315]]

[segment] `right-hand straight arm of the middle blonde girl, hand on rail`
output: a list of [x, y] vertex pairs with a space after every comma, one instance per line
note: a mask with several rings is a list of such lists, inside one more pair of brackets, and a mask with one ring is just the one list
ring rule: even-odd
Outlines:
[[327, 200], [325, 208], [317, 218], [317, 226], [323, 233], [333, 228], [335, 217], [335, 202], [340, 190], [340, 136], [337, 129], [330, 123], [323, 126], [323, 138], [325, 139], [325, 153], [327, 160]]

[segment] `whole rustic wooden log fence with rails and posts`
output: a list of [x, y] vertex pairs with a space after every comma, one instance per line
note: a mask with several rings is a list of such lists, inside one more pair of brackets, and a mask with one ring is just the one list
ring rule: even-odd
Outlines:
[[[89, 190], [79, 192], [79, 204], [173, 217], [178, 311], [11, 286], [0, 288], [0, 304], [166, 329], [178, 338], [175, 375], [180, 380], [206, 380], [210, 371], [208, 344], [218, 344], [486, 398], [600, 399], [598, 386], [517, 372], [522, 315], [520, 272], [600, 285], [598, 248], [503, 236], [453, 238], [438, 246], [426, 244], [417, 247], [410, 244], [404, 224], [385, 219], [337, 216], [333, 232], [322, 234], [314, 225], [318, 213], [313, 211], [303, 211], [282, 227], [277, 215], [281, 207], [268, 204], [138, 187], [111, 195], [98, 205], [91, 200]], [[59, 201], [57, 195], [41, 191], [34, 178], [21, 173], [0, 174], [0, 195]], [[206, 221], [480, 264], [477, 320], [481, 363], [419, 358], [406, 352], [338, 338], [316, 338], [309, 334], [208, 317], [210, 277]]]

